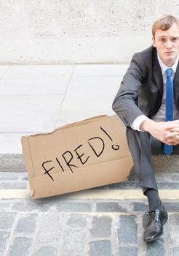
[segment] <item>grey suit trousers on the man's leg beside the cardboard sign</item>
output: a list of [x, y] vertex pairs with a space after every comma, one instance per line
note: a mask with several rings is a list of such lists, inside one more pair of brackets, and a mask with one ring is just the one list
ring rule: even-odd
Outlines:
[[[151, 156], [152, 154], [164, 154], [164, 143], [153, 138], [148, 132], [138, 132], [129, 127], [127, 127], [126, 135], [143, 194], [145, 195], [148, 188], [158, 191]], [[179, 146], [173, 148], [173, 153], [179, 154]]]

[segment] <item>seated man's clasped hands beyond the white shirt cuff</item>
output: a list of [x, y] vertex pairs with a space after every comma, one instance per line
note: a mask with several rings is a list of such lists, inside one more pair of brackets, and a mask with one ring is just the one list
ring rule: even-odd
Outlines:
[[[151, 119], [147, 119], [140, 124], [140, 129], [149, 132], [156, 140], [162, 141], [168, 145], [174, 145], [173, 143], [179, 143], [179, 137], [177, 140], [176, 132], [179, 131], [179, 121], [178, 123], [174, 121], [167, 122], [156, 122]], [[173, 133], [175, 132], [175, 134]], [[177, 145], [175, 144], [175, 145]]]

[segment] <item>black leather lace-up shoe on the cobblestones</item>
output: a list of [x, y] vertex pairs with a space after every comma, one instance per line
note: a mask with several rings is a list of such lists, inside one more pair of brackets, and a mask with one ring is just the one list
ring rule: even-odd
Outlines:
[[165, 209], [164, 211], [156, 209], [155, 211], [149, 211], [147, 215], [149, 215], [149, 222], [146, 225], [143, 240], [148, 243], [163, 235], [163, 225], [167, 222], [168, 214]]

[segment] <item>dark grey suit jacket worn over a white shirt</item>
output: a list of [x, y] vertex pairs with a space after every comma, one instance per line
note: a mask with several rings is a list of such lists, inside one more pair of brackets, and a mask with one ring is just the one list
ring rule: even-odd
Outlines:
[[[130, 67], [122, 80], [112, 108], [127, 127], [140, 115], [154, 116], [163, 95], [162, 71], [156, 48], [143, 50], [132, 56]], [[179, 64], [174, 79], [174, 98], [179, 110]]]

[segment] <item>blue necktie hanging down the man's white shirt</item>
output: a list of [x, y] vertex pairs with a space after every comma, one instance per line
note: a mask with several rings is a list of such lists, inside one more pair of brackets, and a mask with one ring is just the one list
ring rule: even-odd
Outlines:
[[[167, 69], [167, 83], [166, 83], [166, 121], [173, 120], [173, 80], [172, 69]], [[172, 145], [164, 144], [164, 153], [171, 154], [173, 151]]]

